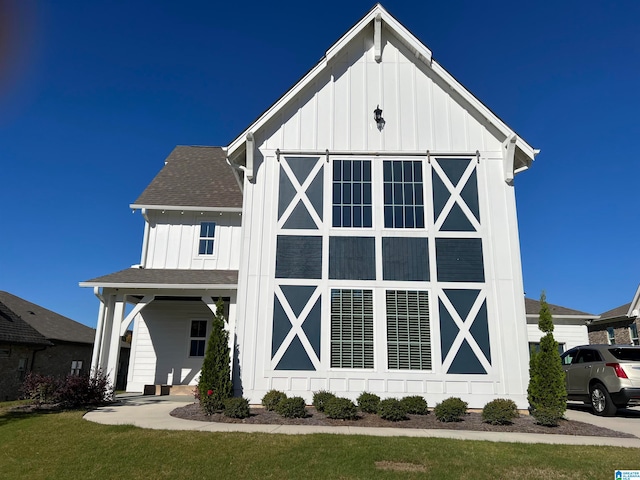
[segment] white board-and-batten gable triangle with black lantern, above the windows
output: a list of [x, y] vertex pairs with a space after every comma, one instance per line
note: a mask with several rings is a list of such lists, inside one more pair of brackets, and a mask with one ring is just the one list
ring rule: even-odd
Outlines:
[[[357, 36], [264, 130], [263, 151], [500, 151], [504, 138], [394, 36], [383, 61], [372, 36]], [[376, 106], [386, 124], [373, 121]]]

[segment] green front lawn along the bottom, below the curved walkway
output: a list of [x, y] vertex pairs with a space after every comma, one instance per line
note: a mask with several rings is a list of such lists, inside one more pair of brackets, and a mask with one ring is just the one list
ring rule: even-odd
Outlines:
[[0, 404], [0, 478], [600, 479], [639, 449], [352, 435], [143, 430], [84, 412], [14, 414]]

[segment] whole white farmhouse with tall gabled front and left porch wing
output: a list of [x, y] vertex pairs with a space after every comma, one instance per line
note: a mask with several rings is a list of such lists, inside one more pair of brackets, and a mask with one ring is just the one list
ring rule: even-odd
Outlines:
[[80, 284], [100, 299], [93, 365], [116, 374], [134, 321], [127, 389], [194, 385], [221, 297], [251, 403], [526, 408], [513, 179], [536, 154], [376, 5], [231, 144], [167, 158], [131, 205], [140, 265]]

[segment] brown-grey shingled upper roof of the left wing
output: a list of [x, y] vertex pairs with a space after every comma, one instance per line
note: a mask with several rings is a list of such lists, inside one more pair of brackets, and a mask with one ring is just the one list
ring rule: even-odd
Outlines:
[[242, 191], [220, 147], [177, 146], [134, 206], [242, 208]]

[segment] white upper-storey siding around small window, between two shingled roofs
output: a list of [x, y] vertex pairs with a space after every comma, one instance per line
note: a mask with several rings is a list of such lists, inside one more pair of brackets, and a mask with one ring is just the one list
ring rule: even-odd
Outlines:
[[[240, 261], [239, 213], [151, 211], [146, 268], [237, 270]], [[200, 223], [215, 222], [213, 255], [198, 254]]]

